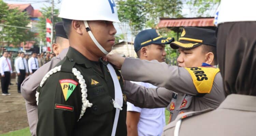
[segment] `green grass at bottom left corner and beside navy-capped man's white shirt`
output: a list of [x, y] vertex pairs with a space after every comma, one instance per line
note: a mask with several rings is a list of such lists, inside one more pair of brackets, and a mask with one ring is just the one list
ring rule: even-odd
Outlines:
[[[165, 122], [168, 124], [170, 113], [169, 111], [165, 110]], [[0, 136], [30, 136], [29, 128], [16, 130], [13, 132], [0, 134]]]

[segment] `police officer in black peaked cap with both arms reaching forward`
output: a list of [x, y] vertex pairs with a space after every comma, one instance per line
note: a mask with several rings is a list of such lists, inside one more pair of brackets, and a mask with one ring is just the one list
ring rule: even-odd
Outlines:
[[217, 108], [225, 95], [219, 69], [213, 66], [217, 64], [215, 31], [185, 27], [179, 41], [172, 42], [171, 47], [179, 48], [179, 67], [108, 55], [108, 61], [122, 66], [125, 80], [149, 82], [166, 88], [147, 89], [125, 81], [127, 100], [142, 108], [169, 104], [170, 121], [182, 113]]

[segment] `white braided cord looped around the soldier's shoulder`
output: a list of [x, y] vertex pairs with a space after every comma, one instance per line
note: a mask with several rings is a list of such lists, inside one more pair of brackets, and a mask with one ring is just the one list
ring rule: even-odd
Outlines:
[[[49, 72], [47, 72], [44, 75], [44, 78], [42, 79], [41, 83], [40, 83], [40, 87], [43, 86], [44, 82], [50, 77], [50, 75], [52, 75], [53, 73], [56, 73], [58, 71], [60, 71], [61, 66], [55, 67], [53, 69], [51, 69]], [[81, 92], [82, 92], [82, 109], [81, 109], [81, 114], [79, 116], [79, 119], [82, 118], [82, 116], [85, 113], [85, 110], [87, 107], [91, 107], [93, 104], [90, 103], [86, 98], [87, 98], [87, 89], [86, 89], [86, 84], [85, 84], [85, 80], [83, 79], [83, 75], [80, 73], [80, 71], [78, 71], [76, 68], [72, 68], [72, 73], [76, 76], [76, 78], [79, 81], [80, 87], [81, 87]], [[37, 93], [35, 94], [36, 100], [37, 100], [37, 105], [38, 105], [38, 97], [39, 97], [39, 92], [37, 91]], [[79, 119], [77, 121], [79, 121]]]

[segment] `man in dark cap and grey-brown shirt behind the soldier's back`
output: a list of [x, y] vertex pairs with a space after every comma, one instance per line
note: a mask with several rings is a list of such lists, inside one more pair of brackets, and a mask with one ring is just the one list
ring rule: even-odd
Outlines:
[[54, 66], [59, 63], [67, 54], [69, 47], [69, 40], [64, 31], [63, 23], [58, 22], [55, 24], [55, 43], [52, 45], [53, 52], [58, 55], [53, 57], [52, 60], [32, 75], [29, 75], [22, 83], [21, 94], [26, 100], [26, 109], [28, 115], [28, 123], [32, 136], [36, 135], [37, 122], [38, 122], [38, 113], [37, 113], [37, 104], [35, 100], [36, 89], [39, 86], [44, 75], [54, 68]]

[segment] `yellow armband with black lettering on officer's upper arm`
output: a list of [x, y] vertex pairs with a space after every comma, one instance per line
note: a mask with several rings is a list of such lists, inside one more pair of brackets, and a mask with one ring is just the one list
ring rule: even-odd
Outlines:
[[211, 92], [215, 75], [219, 72], [218, 68], [191, 67], [185, 69], [191, 75], [198, 93], [203, 94]]

